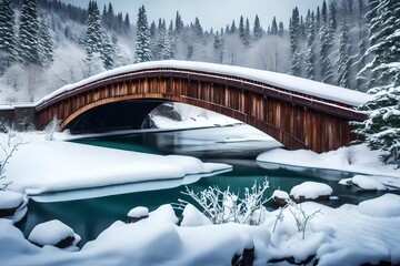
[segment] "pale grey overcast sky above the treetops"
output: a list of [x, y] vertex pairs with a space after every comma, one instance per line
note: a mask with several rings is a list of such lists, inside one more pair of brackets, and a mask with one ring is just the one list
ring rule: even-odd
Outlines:
[[[61, 0], [67, 3], [87, 8], [89, 0]], [[203, 30], [219, 30], [236, 20], [239, 24], [240, 16], [249, 18], [252, 25], [256, 14], [259, 16], [262, 28], [271, 24], [273, 16], [282, 21], [288, 28], [289, 18], [294, 7], [299, 8], [300, 14], [306, 16], [307, 10], [317, 9], [322, 0], [98, 0], [102, 12], [103, 6], [112, 3], [114, 12], [129, 13], [132, 23], [136, 23], [139, 8], [144, 4], [149, 24], [163, 18], [174, 20], [177, 11], [180, 12], [183, 23], [188, 24], [198, 17]]]

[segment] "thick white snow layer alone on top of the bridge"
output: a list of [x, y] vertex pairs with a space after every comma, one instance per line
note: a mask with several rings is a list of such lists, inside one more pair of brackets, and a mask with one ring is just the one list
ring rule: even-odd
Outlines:
[[46, 101], [49, 101], [59, 94], [74, 90], [79, 86], [89, 84], [91, 82], [96, 82], [98, 80], [107, 79], [113, 75], [120, 75], [123, 73], [152, 70], [152, 69], [177, 69], [177, 70], [188, 70], [188, 71], [201, 71], [210, 74], [212, 73], [212, 74], [236, 76], [236, 78], [252, 80], [276, 88], [280, 88], [316, 98], [321, 98], [352, 106], [362, 105], [367, 101], [371, 100], [370, 95], [362, 92], [357, 92], [353, 90], [349, 90], [336, 85], [329, 85], [326, 83], [297, 78], [288, 74], [277, 73], [277, 72], [249, 69], [242, 66], [224, 65], [224, 64], [204, 63], [204, 62], [166, 60], [166, 61], [152, 61], [152, 62], [130, 64], [102, 72], [100, 74], [90, 76], [74, 84], [68, 84], [54, 91], [53, 93], [47, 95], [46, 98], [37, 102], [37, 105]]

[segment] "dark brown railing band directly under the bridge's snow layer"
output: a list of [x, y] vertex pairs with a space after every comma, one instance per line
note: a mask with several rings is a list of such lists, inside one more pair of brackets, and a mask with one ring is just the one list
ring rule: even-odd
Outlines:
[[354, 110], [354, 106], [343, 104], [341, 102], [336, 102], [329, 99], [308, 95], [301, 92], [277, 88], [268, 83], [252, 81], [239, 76], [174, 68], [146, 69], [102, 78], [97, 81], [88, 82], [86, 84], [72, 88], [70, 90], [64, 90], [63, 92], [54, 95], [53, 98], [42, 101], [40, 104], [37, 105], [36, 110], [40, 112], [47, 106], [51, 106], [60, 101], [101, 86], [147, 78], [187, 79], [201, 82], [218, 83], [227, 86], [233, 86], [241, 90], [251, 91], [261, 94], [264, 98], [278, 99], [292, 104], [314, 109], [337, 116], [342, 116], [349, 120], [360, 121], [364, 119], [364, 114], [357, 112]]

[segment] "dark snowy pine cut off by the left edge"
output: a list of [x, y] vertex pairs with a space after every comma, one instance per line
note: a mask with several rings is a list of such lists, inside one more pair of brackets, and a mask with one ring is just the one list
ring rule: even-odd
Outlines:
[[18, 59], [16, 16], [11, 0], [0, 1], [0, 74]]

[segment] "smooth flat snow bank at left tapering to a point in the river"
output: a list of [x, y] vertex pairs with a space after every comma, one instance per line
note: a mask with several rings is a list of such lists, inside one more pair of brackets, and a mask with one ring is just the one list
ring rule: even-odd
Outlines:
[[[29, 137], [27, 137], [29, 139]], [[51, 155], [51, 156], [49, 156]], [[20, 167], [23, 162], [23, 167]], [[183, 178], [230, 170], [227, 164], [202, 163], [190, 156], [161, 156], [97, 147], [33, 135], [21, 145], [7, 175], [30, 195], [147, 181]]]

